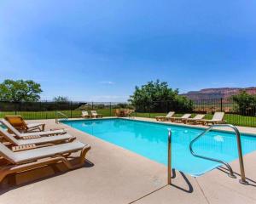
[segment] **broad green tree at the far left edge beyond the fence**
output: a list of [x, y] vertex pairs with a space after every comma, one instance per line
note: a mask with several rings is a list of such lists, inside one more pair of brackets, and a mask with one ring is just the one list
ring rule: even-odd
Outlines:
[[6, 79], [0, 83], [0, 100], [13, 102], [34, 102], [40, 99], [41, 85], [32, 80]]

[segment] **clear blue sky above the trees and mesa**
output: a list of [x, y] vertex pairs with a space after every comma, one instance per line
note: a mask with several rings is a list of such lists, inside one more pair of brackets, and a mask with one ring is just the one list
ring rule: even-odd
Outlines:
[[124, 101], [136, 85], [181, 93], [256, 86], [256, 2], [2, 0], [0, 81], [42, 99]]

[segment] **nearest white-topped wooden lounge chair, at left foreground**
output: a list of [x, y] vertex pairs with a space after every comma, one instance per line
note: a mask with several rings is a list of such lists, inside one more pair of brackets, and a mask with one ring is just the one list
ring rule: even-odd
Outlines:
[[[8, 161], [8, 164], [0, 167], [0, 182], [10, 173], [24, 172], [49, 164], [62, 162], [68, 169], [82, 167], [88, 150], [90, 150], [90, 145], [79, 141], [18, 152], [9, 150], [8, 147], [0, 143], [0, 156]], [[72, 165], [69, 156], [78, 151], [81, 151], [79, 163]]]

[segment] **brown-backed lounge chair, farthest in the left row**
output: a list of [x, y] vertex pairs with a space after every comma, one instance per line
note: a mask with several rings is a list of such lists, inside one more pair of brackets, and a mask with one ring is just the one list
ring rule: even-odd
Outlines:
[[13, 127], [20, 132], [44, 131], [44, 123], [26, 123], [22, 116], [4, 116]]

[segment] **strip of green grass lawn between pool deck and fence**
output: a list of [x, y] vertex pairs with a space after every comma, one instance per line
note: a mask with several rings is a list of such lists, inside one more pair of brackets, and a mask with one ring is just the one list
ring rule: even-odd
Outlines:
[[[96, 110], [97, 113], [102, 114], [103, 116], [114, 116], [114, 110], [112, 109], [100, 109]], [[81, 111], [61, 111], [66, 114], [69, 118], [81, 117]], [[0, 112], [0, 118], [7, 115], [20, 115], [23, 116], [26, 120], [36, 120], [36, 119], [55, 119], [55, 111], [9, 111], [9, 112]], [[175, 116], [182, 116], [183, 114], [176, 114]], [[150, 117], [154, 118], [155, 116], [166, 116], [166, 113], [133, 113], [132, 116], [138, 117]], [[192, 114], [195, 116], [195, 114]], [[211, 119], [212, 115], [207, 114], [207, 119]], [[236, 114], [225, 114], [224, 120], [229, 124], [238, 125], [238, 126], [247, 126], [247, 127], [256, 127], [256, 116], [241, 116]]]

